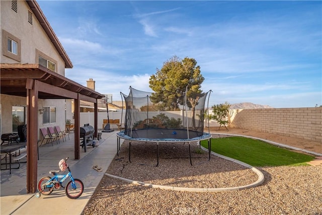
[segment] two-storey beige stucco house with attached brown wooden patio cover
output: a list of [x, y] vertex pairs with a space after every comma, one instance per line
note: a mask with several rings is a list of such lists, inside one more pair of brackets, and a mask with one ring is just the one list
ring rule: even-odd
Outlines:
[[97, 101], [104, 95], [65, 78], [65, 68], [72, 63], [36, 1], [0, 4], [0, 130], [13, 132], [18, 124], [27, 124], [27, 192], [35, 193], [39, 129], [64, 128], [65, 114], [71, 112], [65, 101], [73, 99], [74, 159], [80, 159], [80, 101], [94, 103], [97, 135]]

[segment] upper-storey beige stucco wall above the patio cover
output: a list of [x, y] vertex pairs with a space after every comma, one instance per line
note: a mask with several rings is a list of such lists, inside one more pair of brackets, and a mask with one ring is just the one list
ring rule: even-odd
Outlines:
[[[36, 49], [57, 61], [56, 73], [65, 76], [65, 62], [51, 43], [47, 34], [33, 14], [33, 24], [28, 22], [28, 11], [32, 12], [26, 1], [18, 1], [18, 12], [11, 9], [11, 1], [0, 1], [1, 29], [21, 40], [21, 61], [7, 57], [1, 52], [2, 63], [38, 63]], [[1, 41], [2, 41], [1, 32]]]

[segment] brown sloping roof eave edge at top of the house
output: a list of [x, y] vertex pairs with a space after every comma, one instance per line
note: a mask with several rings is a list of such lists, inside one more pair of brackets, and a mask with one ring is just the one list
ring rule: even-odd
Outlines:
[[49, 22], [47, 21], [45, 15], [44, 15], [44, 13], [40, 9], [40, 6], [38, 5], [38, 3], [36, 1], [26, 1], [26, 2], [29, 5], [29, 7], [32, 10], [32, 12], [34, 13], [34, 15], [36, 16], [36, 18], [38, 19], [41, 27], [44, 29], [44, 31], [48, 35], [50, 41], [52, 42], [52, 44], [57, 49], [59, 55], [65, 61], [65, 68], [72, 68], [73, 65], [71, 63], [71, 60], [69, 59], [66, 51], [64, 50], [63, 46], [59, 42], [54, 30], [51, 28]]

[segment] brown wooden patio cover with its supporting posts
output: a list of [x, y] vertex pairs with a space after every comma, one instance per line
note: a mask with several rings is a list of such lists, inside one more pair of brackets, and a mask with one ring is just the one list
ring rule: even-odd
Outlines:
[[97, 99], [104, 95], [65, 78], [39, 64], [0, 63], [1, 94], [26, 97], [27, 100], [27, 192], [37, 191], [38, 99], [74, 99], [74, 159], [81, 158], [79, 147], [80, 100], [94, 103], [97, 136]]

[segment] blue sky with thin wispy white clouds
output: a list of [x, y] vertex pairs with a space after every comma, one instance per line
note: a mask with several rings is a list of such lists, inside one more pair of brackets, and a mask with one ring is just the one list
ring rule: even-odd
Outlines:
[[195, 58], [209, 105], [322, 104], [321, 1], [38, 1], [73, 68], [113, 94], [151, 91], [174, 55]]

